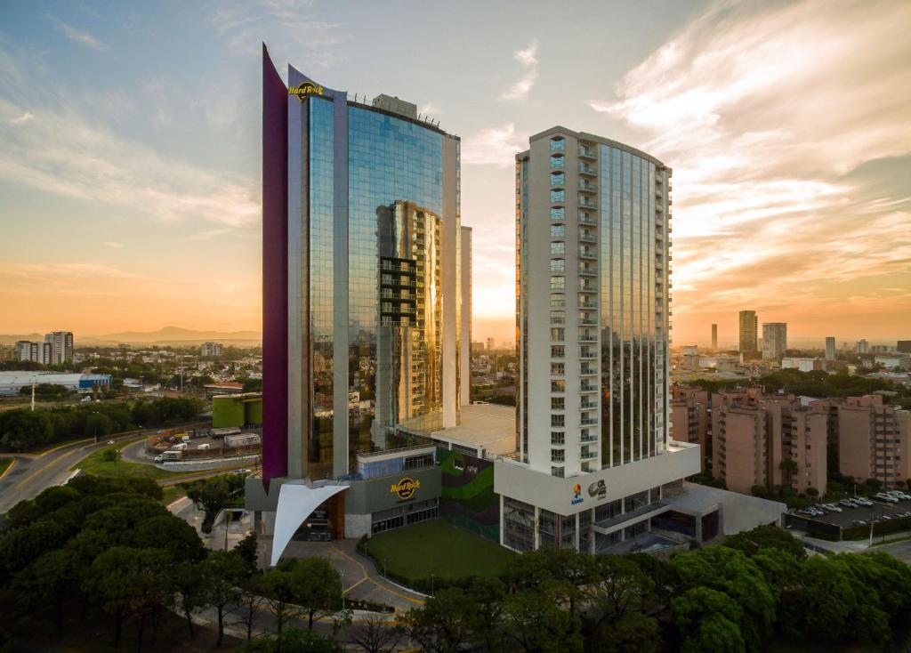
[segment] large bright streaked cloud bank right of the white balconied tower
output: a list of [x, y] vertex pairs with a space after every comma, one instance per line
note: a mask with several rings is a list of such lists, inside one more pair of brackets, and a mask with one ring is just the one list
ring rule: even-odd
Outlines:
[[[744, 307], [824, 320], [911, 281], [909, 24], [907, 3], [717, 3], [589, 102], [674, 168], [682, 332]], [[911, 318], [899, 301], [866, 303]]]

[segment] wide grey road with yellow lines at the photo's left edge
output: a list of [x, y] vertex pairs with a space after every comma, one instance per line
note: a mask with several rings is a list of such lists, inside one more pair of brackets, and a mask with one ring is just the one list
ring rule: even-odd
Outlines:
[[72, 474], [69, 468], [88, 454], [106, 446], [108, 440], [125, 440], [137, 434], [99, 438], [95, 444], [91, 439], [62, 444], [44, 454], [4, 454], [13, 458], [15, 464], [0, 480], [0, 515], [24, 499], [34, 499], [52, 485], [60, 485]]

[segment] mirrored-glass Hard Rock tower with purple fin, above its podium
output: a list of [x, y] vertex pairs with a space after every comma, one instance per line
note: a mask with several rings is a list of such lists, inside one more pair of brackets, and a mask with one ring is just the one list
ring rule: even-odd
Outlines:
[[458, 422], [459, 201], [459, 139], [415, 105], [263, 52], [264, 481]]

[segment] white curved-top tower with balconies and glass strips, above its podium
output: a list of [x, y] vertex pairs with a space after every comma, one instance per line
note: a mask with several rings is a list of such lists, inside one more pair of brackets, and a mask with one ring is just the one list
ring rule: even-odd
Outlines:
[[517, 155], [520, 459], [573, 476], [668, 441], [670, 168], [553, 128]]

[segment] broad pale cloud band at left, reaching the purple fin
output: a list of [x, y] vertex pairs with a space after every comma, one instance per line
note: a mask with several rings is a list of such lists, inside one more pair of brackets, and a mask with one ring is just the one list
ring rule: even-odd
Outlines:
[[79, 103], [67, 102], [67, 88], [26, 81], [46, 71], [2, 47], [0, 66], [8, 73], [0, 77], [0, 116], [18, 117], [0, 120], [0, 179], [162, 221], [230, 228], [259, 222], [255, 179], [167, 158], [118, 136], [103, 111], [80, 113]]

